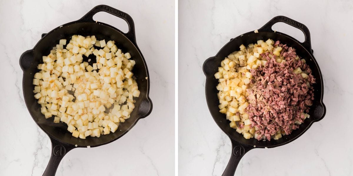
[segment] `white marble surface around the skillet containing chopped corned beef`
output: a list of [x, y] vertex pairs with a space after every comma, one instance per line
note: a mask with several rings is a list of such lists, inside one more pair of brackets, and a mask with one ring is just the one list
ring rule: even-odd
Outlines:
[[[221, 175], [231, 142], [212, 119], [202, 64], [229, 39], [254, 31], [276, 15], [305, 24], [324, 77], [323, 120], [292, 143], [246, 153], [235, 175], [351, 176], [353, 1], [179, 0], [179, 175]], [[302, 37], [285, 24], [274, 30]]]

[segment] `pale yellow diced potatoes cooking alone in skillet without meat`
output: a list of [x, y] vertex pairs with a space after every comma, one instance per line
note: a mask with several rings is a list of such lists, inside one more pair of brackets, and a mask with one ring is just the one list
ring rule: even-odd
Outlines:
[[[45, 118], [65, 122], [76, 138], [100, 137], [130, 118], [140, 92], [131, 70], [135, 61], [109, 40], [74, 35], [61, 39], [34, 75], [34, 97]], [[96, 47], [96, 48], [95, 48]], [[96, 56], [96, 63], [83, 56]]]

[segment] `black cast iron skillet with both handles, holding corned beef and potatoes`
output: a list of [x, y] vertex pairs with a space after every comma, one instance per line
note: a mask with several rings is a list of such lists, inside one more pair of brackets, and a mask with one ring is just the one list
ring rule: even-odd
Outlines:
[[[274, 32], [271, 27], [278, 22], [286, 23], [303, 31], [305, 41], [301, 43], [287, 34]], [[241, 134], [229, 127], [229, 121], [226, 120], [224, 114], [219, 112], [219, 100], [217, 97], [218, 90], [216, 89], [218, 80], [214, 77], [214, 74], [217, 72], [218, 67], [220, 67], [221, 61], [233, 51], [239, 50], [241, 44], [247, 46], [247, 44], [256, 43], [257, 40], [267, 40], [268, 38], [275, 41], [280, 40], [283, 44], [294, 47], [297, 49], [297, 54], [306, 59], [306, 63], [310, 66], [312, 74], [316, 78], [316, 84], [313, 85], [315, 88], [315, 100], [313, 101], [313, 105], [309, 112], [310, 118], [307, 118], [300, 127], [297, 130], [294, 130], [290, 135], [285, 135], [279, 140], [271, 141], [258, 141], [254, 138], [245, 139]], [[232, 156], [223, 172], [223, 176], [233, 176], [241, 157], [243, 157], [243, 155], [249, 150], [265, 147], [272, 148], [290, 143], [308, 130], [313, 122], [321, 120], [326, 113], [326, 108], [322, 101], [324, 94], [322, 75], [311, 49], [309, 29], [305, 25], [290, 18], [284, 16], [274, 17], [267, 24], [262, 26], [258, 30], [258, 33], [251, 31], [231, 39], [230, 42], [223, 46], [216, 56], [210, 57], [204, 62], [203, 71], [206, 75], [205, 88], [208, 108], [217, 125], [227, 134], [232, 142]]]

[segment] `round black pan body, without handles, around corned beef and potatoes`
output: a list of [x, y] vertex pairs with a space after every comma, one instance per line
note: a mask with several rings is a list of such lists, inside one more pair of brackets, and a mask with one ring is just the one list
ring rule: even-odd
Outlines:
[[[315, 100], [313, 101], [313, 105], [311, 106], [310, 118], [306, 119], [297, 130], [294, 130], [290, 135], [285, 135], [279, 140], [271, 140], [271, 141], [258, 141], [257, 139], [245, 139], [243, 135], [236, 132], [233, 128], [229, 127], [229, 120], [226, 120], [225, 114], [219, 112], [219, 99], [217, 97], [218, 90], [216, 86], [218, 84], [218, 80], [214, 77], [214, 74], [217, 72], [218, 67], [221, 67], [221, 61], [231, 54], [234, 51], [239, 50], [239, 46], [244, 44], [247, 46], [251, 43], [256, 43], [257, 40], [267, 40], [268, 38], [273, 40], [280, 40], [283, 44], [287, 44], [288, 46], [292, 46], [297, 49], [297, 54], [306, 59], [306, 63], [312, 69], [312, 74], [316, 78], [316, 84], [314, 84], [315, 88]], [[286, 143], [291, 142], [292, 140], [298, 138], [301, 134], [303, 134], [313, 122], [320, 120], [324, 113], [325, 108], [322, 103], [322, 76], [319, 71], [319, 67], [315, 61], [315, 58], [297, 41], [287, 36], [286, 34], [279, 32], [248, 32], [237, 38], [232, 39], [228, 44], [226, 44], [219, 53], [213, 57], [208, 59], [204, 63], [204, 72], [207, 77], [207, 81], [205, 84], [206, 87], [206, 99], [211, 115], [213, 116], [216, 123], [219, 127], [233, 140], [236, 140], [240, 143], [247, 144], [250, 146], [256, 145], [256, 147], [276, 147], [279, 145], [284, 145]]]

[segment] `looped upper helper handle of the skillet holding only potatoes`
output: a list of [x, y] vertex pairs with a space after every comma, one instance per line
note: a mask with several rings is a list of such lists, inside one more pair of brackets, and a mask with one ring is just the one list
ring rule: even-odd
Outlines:
[[93, 16], [98, 12], [107, 12], [116, 17], [119, 17], [126, 21], [129, 31], [127, 33], [122, 32], [125, 36], [130, 39], [133, 43], [136, 43], [136, 36], [135, 36], [135, 24], [131, 16], [125, 12], [122, 12], [118, 9], [107, 5], [98, 5], [92, 8], [87, 14], [85, 14], [79, 21], [87, 21], [87, 22], [95, 22], [93, 20]]

